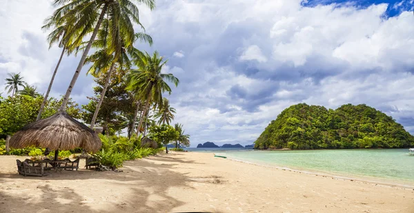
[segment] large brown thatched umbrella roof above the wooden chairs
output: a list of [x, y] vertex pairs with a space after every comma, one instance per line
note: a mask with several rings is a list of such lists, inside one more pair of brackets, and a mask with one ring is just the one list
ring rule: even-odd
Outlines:
[[58, 112], [47, 119], [29, 123], [10, 139], [12, 148], [30, 145], [50, 150], [83, 148], [88, 152], [96, 152], [102, 142], [92, 129], [72, 119], [66, 112]]

